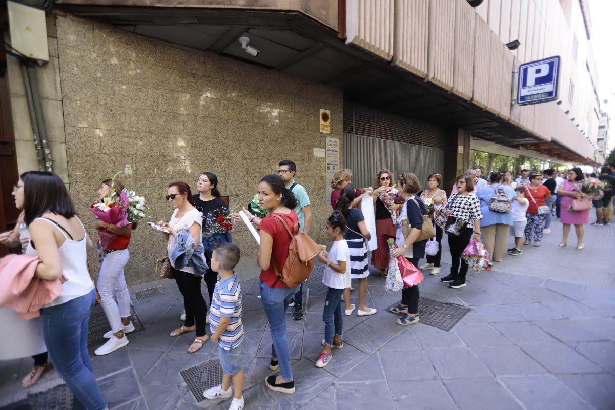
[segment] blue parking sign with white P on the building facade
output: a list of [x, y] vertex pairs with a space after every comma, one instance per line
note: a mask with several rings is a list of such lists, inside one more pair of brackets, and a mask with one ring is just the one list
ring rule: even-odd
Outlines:
[[560, 56], [544, 58], [519, 66], [517, 104], [544, 103], [557, 99]]

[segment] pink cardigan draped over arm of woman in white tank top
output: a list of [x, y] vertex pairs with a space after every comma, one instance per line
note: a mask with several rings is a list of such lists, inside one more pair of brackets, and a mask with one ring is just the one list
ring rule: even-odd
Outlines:
[[41, 308], [62, 294], [62, 276], [56, 280], [34, 277], [41, 260], [35, 256], [10, 254], [0, 261], [0, 307], [19, 313], [22, 319], [41, 315]]

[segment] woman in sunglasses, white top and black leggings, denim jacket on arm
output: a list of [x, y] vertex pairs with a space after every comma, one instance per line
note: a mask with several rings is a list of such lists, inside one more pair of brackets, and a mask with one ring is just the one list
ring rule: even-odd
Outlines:
[[[167, 252], [169, 259], [173, 261], [173, 251], [175, 250], [174, 242], [177, 235], [183, 235], [186, 230], [196, 246], [193, 251], [202, 249], [203, 246], [203, 218], [200, 212], [194, 207], [194, 198], [190, 187], [185, 182], [173, 182], [169, 184], [167, 189], [167, 201], [170, 201], [175, 210], [171, 216], [169, 223], [160, 221], [158, 224], [169, 232], [163, 235], [167, 238]], [[186, 243], [188, 243], [186, 241]], [[200, 293], [201, 275], [195, 272], [194, 266], [186, 265], [181, 269], [175, 269], [171, 262], [171, 270], [173, 277], [177, 282], [177, 287], [180, 289], [181, 296], [184, 298], [184, 309], [186, 312], [186, 323], [184, 326], [173, 330], [170, 336], [181, 336], [184, 333], [196, 331], [196, 337], [188, 349], [188, 353], [198, 352], [208, 336], [205, 334], [205, 315], [207, 315], [207, 304], [203, 299], [203, 294]]]

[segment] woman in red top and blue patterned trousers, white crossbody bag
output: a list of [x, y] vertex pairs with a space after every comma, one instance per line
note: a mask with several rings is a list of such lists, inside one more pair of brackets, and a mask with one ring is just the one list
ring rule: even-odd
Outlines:
[[530, 174], [530, 183], [525, 186], [525, 197], [530, 200], [530, 206], [525, 213], [528, 224], [525, 226], [524, 245], [530, 245], [532, 240], [534, 240], [534, 246], [540, 246], [542, 242], [542, 229], [547, 219], [547, 214], [538, 213], [538, 208], [547, 205], [547, 200], [551, 197], [551, 191], [541, 183], [542, 174], [535, 172]]

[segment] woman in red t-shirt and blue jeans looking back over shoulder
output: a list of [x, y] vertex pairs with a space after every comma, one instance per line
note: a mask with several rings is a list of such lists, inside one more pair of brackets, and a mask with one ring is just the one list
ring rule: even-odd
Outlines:
[[[275, 259], [279, 269], [282, 269], [288, 258], [288, 246], [292, 238], [277, 216], [283, 218], [288, 227], [299, 224], [295, 212], [297, 199], [293, 192], [284, 186], [284, 179], [281, 176], [265, 175], [258, 184], [258, 203], [261, 209], [270, 211], [262, 219], [250, 214], [245, 207], [243, 210], [250, 222], [260, 230], [258, 248], [258, 266], [261, 268], [260, 291], [272, 339], [269, 369], [280, 368], [281, 371], [279, 375], [267, 377], [265, 385], [276, 392], [294, 393], [295, 382], [290, 368], [290, 351], [286, 335], [286, 310], [299, 286], [288, 288], [277, 277], [271, 260]], [[236, 221], [241, 219], [237, 213], [233, 214], [233, 218]]]

